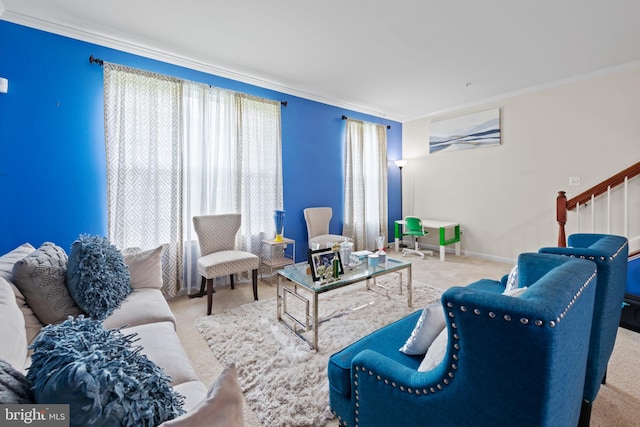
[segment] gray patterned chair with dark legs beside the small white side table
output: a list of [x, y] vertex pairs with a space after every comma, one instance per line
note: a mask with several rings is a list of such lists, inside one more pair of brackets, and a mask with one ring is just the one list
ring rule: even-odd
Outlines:
[[258, 299], [258, 265], [260, 260], [251, 252], [236, 250], [236, 235], [240, 229], [240, 214], [202, 215], [193, 217], [193, 226], [200, 244], [198, 273], [202, 276], [200, 293], [207, 285], [207, 314], [213, 303], [213, 279], [229, 276], [231, 289], [233, 275], [251, 270], [253, 297]]

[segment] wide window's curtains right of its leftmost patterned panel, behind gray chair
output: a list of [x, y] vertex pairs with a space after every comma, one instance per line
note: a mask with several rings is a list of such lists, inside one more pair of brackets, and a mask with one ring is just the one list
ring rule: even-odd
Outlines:
[[238, 248], [260, 254], [282, 209], [280, 103], [185, 82], [185, 281], [199, 287], [196, 215], [238, 212]]

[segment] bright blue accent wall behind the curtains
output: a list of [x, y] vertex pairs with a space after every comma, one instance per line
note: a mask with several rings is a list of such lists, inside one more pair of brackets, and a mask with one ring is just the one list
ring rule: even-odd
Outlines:
[[330, 206], [342, 230], [342, 115], [390, 125], [389, 226], [400, 217], [402, 124], [0, 20], [0, 254], [29, 242], [69, 250], [82, 233], [107, 234], [102, 69], [89, 56], [287, 101], [282, 109], [285, 235], [306, 258], [302, 210]]

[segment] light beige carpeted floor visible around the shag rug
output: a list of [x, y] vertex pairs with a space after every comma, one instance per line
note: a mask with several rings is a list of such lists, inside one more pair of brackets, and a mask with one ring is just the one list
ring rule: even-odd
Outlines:
[[[391, 253], [400, 258], [402, 255]], [[407, 256], [406, 259], [409, 259]], [[425, 257], [420, 260], [411, 258], [413, 262], [413, 280], [428, 283], [444, 291], [451, 286], [465, 286], [481, 278], [500, 278], [507, 274], [512, 265], [484, 260], [476, 257], [455, 256], [447, 254], [446, 262], [437, 257]], [[275, 297], [275, 286], [266, 282], [259, 284], [260, 300]], [[215, 318], [223, 311], [240, 307], [253, 300], [250, 282], [240, 281], [236, 289], [221, 286], [214, 294], [213, 314]], [[275, 301], [273, 307], [267, 307], [262, 316], [275, 317]], [[178, 322], [178, 334], [187, 351], [198, 376], [205, 384], [212, 384], [222, 372], [223, 365], [214, 356], [202, 334], [196, 328], [196, 321], [206, 313], [206, 298], [176, 298], [170, 301], [171, 308]], [[416, 307], [416, 309], [419, 307]], [[320, 325], [322, 331], [324, 324]], [[322, 337], [322, 333], [320, 334]], [[220, 346], [236, 346], [238, 340], [230, 338]], [[559, 397], [561, 398], [561, 397]], [[255, 411], [245, 402], [244, 420], [247, 427], [261, 427]], [[336, 426], [335, 420], [329, 420], [326, 426]], [[607, 384], [600, 388], [591, 415], [592, 427], [631, 427], [640, 425], [640, 334], [620, 328], [614, 353], [609, 363]], [[269, 425], [271, 427], [271, 425]]]

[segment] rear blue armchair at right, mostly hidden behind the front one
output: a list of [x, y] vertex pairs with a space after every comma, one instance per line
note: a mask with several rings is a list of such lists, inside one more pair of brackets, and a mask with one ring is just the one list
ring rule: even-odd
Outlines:
[[606, 380], [607, 364], [618, 333], [627, 283], [629, 245], [626, 237], [608, 234], [572, 234], [567, 243], [569, 247], [542, 248], [539, 252], [588, 259], [595, 262], [598, 268], [598, 287], [579, 423], [580, 426], [588, 426], [593, 401], [598, 395], [600, 384], [604, 384]]

